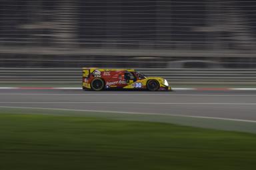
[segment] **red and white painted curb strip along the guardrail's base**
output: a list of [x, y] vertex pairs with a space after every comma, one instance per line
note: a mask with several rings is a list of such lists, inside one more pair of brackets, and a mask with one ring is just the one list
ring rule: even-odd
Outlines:
[[[82, 90], [75, 87], [0, 87], [6, 90]], [[229, 90], [256, 90], [256, 88], [172, 88], [173, 90], [197, 90], [197, 91], [229, 91]]]

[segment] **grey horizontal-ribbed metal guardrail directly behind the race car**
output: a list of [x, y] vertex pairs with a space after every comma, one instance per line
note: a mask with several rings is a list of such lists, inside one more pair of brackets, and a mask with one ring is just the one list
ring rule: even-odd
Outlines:
[[[256, 69], [138, 68], [171, 84], [255, 84]], [[80, 84], [81, 68], [0, 68], [0, 84]]]

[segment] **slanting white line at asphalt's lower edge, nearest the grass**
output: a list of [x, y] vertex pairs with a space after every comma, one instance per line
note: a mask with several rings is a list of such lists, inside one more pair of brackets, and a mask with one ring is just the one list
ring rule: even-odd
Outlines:
[[32, 107], [16, 107], [16, 106], [0, 106], [0, 108], [19, 108], [19, 109], [37, 109], [37, 110], [59, 110], [59, 111], [75, 111], [75, 112], [100, 112], [100, 113], [113, 113], [113, 114], [138, 114], [138, 115], [151, 115], [151, 116], [177, 116], [183, 118], [203, 118], [211, 120], [228, 120], [235, 122], [250, 122], [256, 123], [256, 120], [239, 120], [231, 118], [218, 118], [218, 117], [207, 117], [207, 116], [189, 116], [179, 114], [156, 114], [156, 113], [139, 113], [139, 112], [117, 112], [110, 110], [74, 110], [74, 109], [63, 109], [63, 108], [32, 108]]

